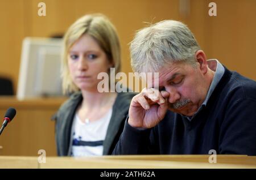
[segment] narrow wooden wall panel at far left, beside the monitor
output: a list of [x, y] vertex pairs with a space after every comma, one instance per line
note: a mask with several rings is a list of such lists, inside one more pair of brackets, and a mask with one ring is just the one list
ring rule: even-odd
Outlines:
[[23, 1], [0, 1], [0, 76], [18, 83], [21, 42], [24, 37]]

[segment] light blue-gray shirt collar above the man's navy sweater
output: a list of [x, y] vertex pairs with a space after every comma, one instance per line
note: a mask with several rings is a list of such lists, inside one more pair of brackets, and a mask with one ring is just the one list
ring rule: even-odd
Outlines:
[[205, 97], [205, 100], [203, 102], [203, 104], [201, 104], [200, 108], [197, 110], [197, 112], [192, 116], [192, 117], [188, 117], [188, 116], [185, 116], [189, 121], [191, 121], [193, 119], [193, 117], [195, 117], [195, 115], [197, 113], [200, 112], [200, 110], [207, 105], [207, 102], [210, 98], [210, 96], [212, 95], [212, 92], [214, 91], [214, 89], [216, 88], [218, 82], [220, 82], [222, 76], [224, 75], [224, 67], [221, 65], [221, 63], [217, 60], [217, 59], [209, 59], [208, 62], [210, 61], [216, 61], [217, 62], [217, 67], [216, 67], [216, 71], [215, 71], [215, 74], [214, 74], [214, 78], [212, 80], [212, 83], [210, 83], [210, 87], [209, 87], [209, 90], [207, 92], [207, 96]]

